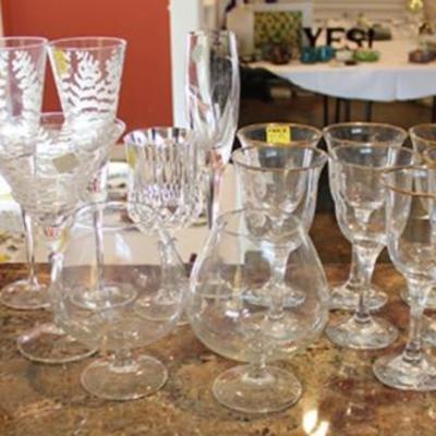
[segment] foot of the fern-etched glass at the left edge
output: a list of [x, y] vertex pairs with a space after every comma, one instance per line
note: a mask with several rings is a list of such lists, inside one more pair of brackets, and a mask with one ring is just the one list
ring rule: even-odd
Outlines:
[[47, 287], [34, 284], [28, 280], [19, 280], [2, 288], [0, 303], [20, 311], [44, 308], [50, 305]]

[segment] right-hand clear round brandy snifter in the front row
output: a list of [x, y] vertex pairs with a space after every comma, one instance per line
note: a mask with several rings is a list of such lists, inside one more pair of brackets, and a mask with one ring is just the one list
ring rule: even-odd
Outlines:
[[[299, 306], [284, 306], [279, 289], [271, 292], [266, 306], [255, 306], [244, 298], [247, 290], [268, 280], [269, 270], [281, 270], [275, 262], [277, 253], [287, 259], [283, 279], [305, 294]], [[209, 278], [217, 275], [221, 280], [213, 287]], [[302, 392], [300, 382], [269, 362], [289, 359], [313, 342], [328, 316], [324, 270], [299, 220], [290, 218], [283, 231], [269, 210], [221, 215], [195, 262], [186, 312], [206, 347], [249, 362], [215, 379], [213, 392], [221, 404], [266, 413], [295, 403]]]

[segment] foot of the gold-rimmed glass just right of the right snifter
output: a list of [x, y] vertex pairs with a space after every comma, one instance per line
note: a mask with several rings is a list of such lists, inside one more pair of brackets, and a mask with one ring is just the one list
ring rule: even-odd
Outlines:
[[355, 317], [341, 320], [326, 328], [331, 342], [355, 350], [379, 350], [390, 346], [398, 336], [398, 330], [388, 322], [372, 317], [360, 323]]

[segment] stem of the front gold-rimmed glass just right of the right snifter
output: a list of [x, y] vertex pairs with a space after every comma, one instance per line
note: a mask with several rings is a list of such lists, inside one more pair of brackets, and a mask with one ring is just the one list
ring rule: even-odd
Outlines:
[[361, 286], [359, 287], [359, 302], [354, 313], [354, 319], [361, 324], [366, 324], [371, 320], [371, 313], [366, 304], [366, 298], [371, 289], [375, 263], [382, 252], [382, 249], [383, 246], [379, 245], [366, 246], [354, 244], [358, 270], [360, 271], [361, 277]]

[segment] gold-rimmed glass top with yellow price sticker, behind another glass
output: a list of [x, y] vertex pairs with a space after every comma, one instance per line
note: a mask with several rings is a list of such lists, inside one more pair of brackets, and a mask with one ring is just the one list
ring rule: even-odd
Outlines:
[[238, 131], [243, 147], [262, 145], [312, 145], [316, 147], [322, 138], [318, 129], [295, 123], [262, 123], [246, 125]]

